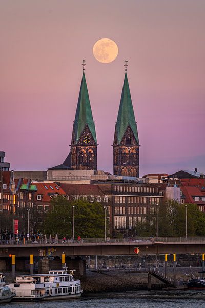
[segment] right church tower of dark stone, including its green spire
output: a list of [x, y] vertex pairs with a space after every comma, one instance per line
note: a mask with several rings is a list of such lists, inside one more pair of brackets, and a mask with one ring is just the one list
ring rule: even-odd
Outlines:
[[127, 77], [121, 93], [113, 142], [113, 172], [117, 176], [139, 178], [139, 138]]

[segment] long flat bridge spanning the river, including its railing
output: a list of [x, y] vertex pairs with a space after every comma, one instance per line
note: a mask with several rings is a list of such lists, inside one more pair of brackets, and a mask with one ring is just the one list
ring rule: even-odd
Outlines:
[[53, 256], [61, 256], [63, 251], [67, 256], [107, 256], [107, 255], [135, 255], [134, 249], [138, 247], [139, 254], [202, 254], [205, 252], [205, 237], [158, 237], [156, 238], [111, 238], [81, 239], [78, 241], [64, 240], [0, 244], [0, 258], [9, 254], [16, 257], [28, 257], [30, 254], [40, 256], [49, 254], [52, 249]]

